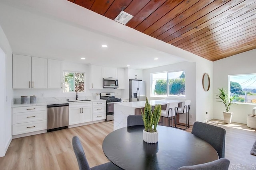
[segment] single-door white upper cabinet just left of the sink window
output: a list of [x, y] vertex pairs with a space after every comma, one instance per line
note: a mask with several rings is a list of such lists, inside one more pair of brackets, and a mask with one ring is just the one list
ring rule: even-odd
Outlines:
[[48, 88], [62, 87], [62, 61], [48, 59]]

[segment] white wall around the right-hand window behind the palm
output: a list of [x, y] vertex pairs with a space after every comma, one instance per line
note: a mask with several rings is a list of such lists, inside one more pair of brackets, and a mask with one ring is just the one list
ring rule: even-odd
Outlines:
[[[228, 75], [256, 73], [256, 49], [234, 55], [225, 59], [214, 61], [213, 63], [213, 92], [218, 92], [218, 88], [228, 88]], [[214, 100], [214, 118], [223, 120], [225, 107], [222, 103]], [[246, 124], [246, 115], [252, 113], [255, 104], [233, 104], [230, 111], [233, 112], [232, 121]]]

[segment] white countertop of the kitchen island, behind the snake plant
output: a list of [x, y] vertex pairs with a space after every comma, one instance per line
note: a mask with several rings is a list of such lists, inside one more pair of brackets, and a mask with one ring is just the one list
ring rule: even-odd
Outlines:
[[[162, 99], [162, 100], [149, 100], [148, 101], [151, 106], [155, 105], [164, 105], [168, 103], [173, 103], [173, 102], [182, 102], [181, 100], [167, 100], [167, 99]], [[127, 107], [133, 107], [133, 108], [140, 108], [140, 107], [145, 107], [146, 101], [140, 101], [140, 102], [127, 102], [127, 103], [120, 103], [120, 104], [115, 104], [115, 105], [121, 105], [121, 106], [127, 106]]]

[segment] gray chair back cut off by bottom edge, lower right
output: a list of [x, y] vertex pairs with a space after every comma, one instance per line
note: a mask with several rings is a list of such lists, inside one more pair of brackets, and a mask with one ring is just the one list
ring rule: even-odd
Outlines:
[[182, 166], [178, 170], [228, 170], [230, 160], [227, 158], [220, 158], [212, 162], [191, 165], [191, 166]]

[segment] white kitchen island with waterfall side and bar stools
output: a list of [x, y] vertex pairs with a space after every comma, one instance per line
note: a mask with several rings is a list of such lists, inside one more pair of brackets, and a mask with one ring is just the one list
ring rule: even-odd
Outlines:
[[[166, 109], [166, 104], [182, 102], [181, 100], [149, 100], [152, 107], [160, 104], [162, 109]], [[127, 102], [121, 104], [114, 104], [114, 130], [127, 126], [128, 115], [141, 115], [141, 109], [144, 110], [146, 101]], [[164, 119], [164, 124], [168, 123], [168, 119]]]

